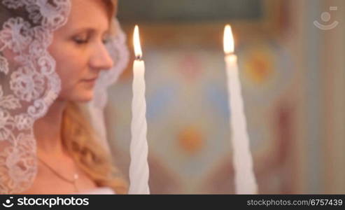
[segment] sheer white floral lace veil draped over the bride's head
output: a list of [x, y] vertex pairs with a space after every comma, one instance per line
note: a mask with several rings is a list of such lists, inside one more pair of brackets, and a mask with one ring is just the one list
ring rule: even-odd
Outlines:
[[[61, 88], [48, 46], [53, 32], [68, 20], [70, 9], [71, 0], [0, 0], [0, 194], [20, 193], [36, 177], [33, 125]], [[129, 55], [117, 20], [114, 25], [116, 32], [107, 48], [115, 65], [101, 73], [87, 106], [104, 145], [106, 88], [125, 69]]]

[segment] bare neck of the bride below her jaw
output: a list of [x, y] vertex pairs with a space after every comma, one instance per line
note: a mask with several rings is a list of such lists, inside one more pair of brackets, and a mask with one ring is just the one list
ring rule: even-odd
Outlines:
[[48, 113], [36, 120], [34, 134], [37, 142], [38, 153], [57, 154], [63, 152], [62, 147], [62, 113], [66, 102], [56, 100]]

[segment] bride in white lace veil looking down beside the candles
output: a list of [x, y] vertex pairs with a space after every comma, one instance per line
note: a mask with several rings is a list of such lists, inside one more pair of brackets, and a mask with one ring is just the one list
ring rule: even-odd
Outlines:
[[0, 194], [127, 193], [88, 114], [127, 63], [116, 5], [0, 1]]

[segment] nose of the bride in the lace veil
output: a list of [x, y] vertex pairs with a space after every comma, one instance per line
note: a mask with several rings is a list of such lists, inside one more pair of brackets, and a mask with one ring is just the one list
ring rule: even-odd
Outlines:
[[113, 66], [113, 59], [109, 55], [104, 43], [95, 46], [90, 57], [90, 67], [97, 70], [109, 70]]

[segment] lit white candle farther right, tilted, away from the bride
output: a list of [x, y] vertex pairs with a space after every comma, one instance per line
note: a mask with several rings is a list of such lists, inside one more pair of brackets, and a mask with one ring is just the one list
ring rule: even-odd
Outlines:
[[253, 172], [253, 160], [249, 147], [244, 102], [241, 95], [237, 56], [234, 55], [234, 38], [230, 25], [224, 30], [224, 52], [227, 73], [227, 90], [230, 109], [230, 130], [234, 164], [234, 181], [237, 194], [256, 194], [258, 185]]

